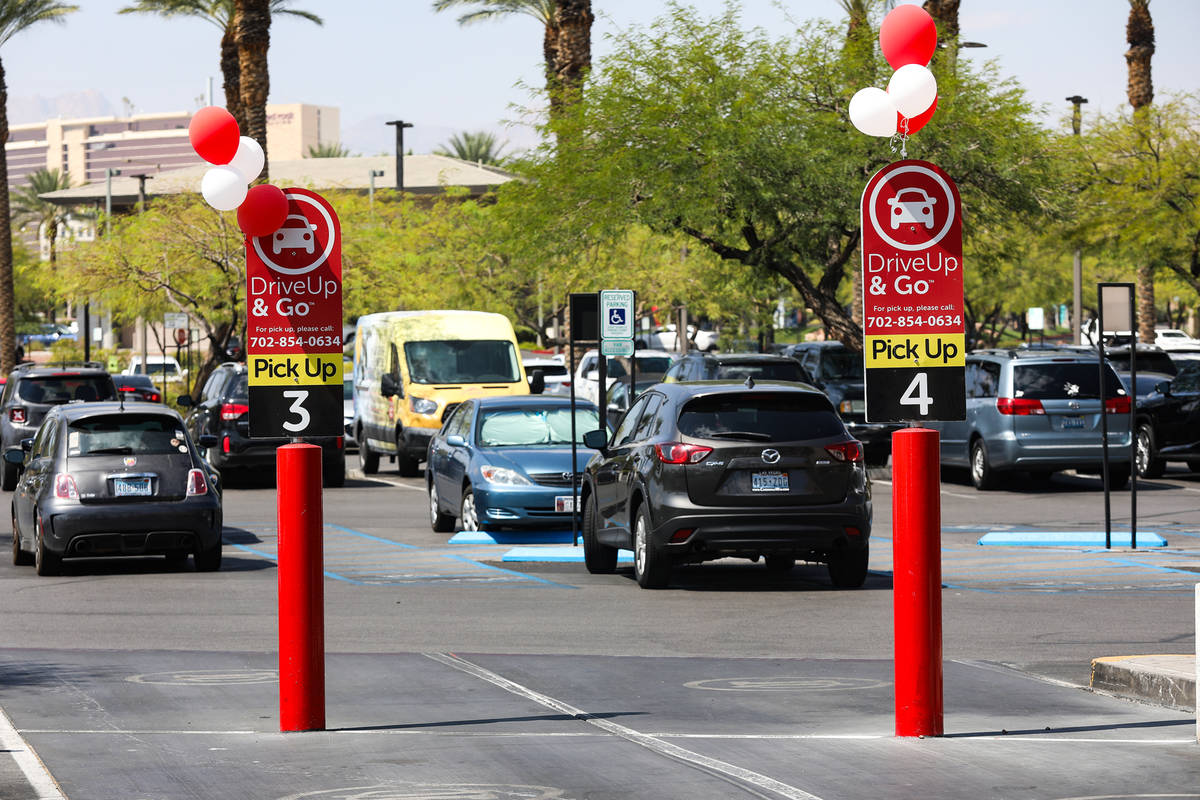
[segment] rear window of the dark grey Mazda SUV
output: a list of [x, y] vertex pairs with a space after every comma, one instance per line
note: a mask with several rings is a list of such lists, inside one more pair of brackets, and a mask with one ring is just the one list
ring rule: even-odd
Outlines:
[[679, 413], [679, 433], [701, 439], [797, 441], [845, 432], [818, 395], [715, 395], [697, 397]]

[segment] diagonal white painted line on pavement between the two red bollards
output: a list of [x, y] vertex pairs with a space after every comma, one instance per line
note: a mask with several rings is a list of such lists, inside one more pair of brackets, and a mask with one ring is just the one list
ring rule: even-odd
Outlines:
[[437, 661], [438, 663], [446, 664], [448, 667], [454, 667], [455, 669], [464, 672], [468, 675], [473, 675], [475, 678], [479, 678], [480, 680], [487, 681], [488, 684], [499, 686], [506, 692], [511, 692], [518, 697], [533, 700], [539, 705], [544, 705], [548, 709], [558, 711], [559, 714], [565, 714], [568, 716], [572, 716], [580, 720], [581, 722], [587, 722], [588, 724], [593, 724], [602, 730], [620, 736], [626, 741], [630, 741], [635, 745], [641, 745], [647, 750], [654, 751], [660, 756], [677, 758], [682, 762], [686, 762], [689, 764], [696, 764], [697, 766], [702, 766], [707, 770], [713, 770], [714, 772], [721, 772], [722, 775], [728, 775], [734, 780], [743, 781], [751, 786], [756, 786], [760, 789], [774, 792], [775, 794], [787, 798], [788, 800], [821, 800], [821, 798], [818, 798], [815, 794], [809, 794], [804, 789], [798, 789], [794, 786], [781, 783], [780, 781], [769, 778], [766, 775], [760, 775], [758, 772], [754, 772], [751, 770], [743, 769], [740, 766], [734, 766], [733, 764], [727, 764], [715, 758], [709, 758], [708, 756], [701, 756], [700, 753], [694, 753], [692, 751], [684, 750], [678, 745], [672, 745], [670, 742], [662, 741], [658, 736], [638, 733], [632, 728], [626, 728], [625, 726], [617, 724], [616, 722], [612, 722], [610, 720], [599, 720], [596, 717], [590, 716], [589, 714], [587, 714], [581, 709], [577, 709], [572, 705], [568, 705], [566, 703], [557, 700], [552, 697], [547, 697], [546, 694], [541, 694], [540, 692], [535, 692], [532, 688], [514, 682], [508, 678], [504, 678], [503, 675], [499, 675], [490, 669], [485, 669], [484, 667], [474, 664], [464, 658], [460, 658], [458, 656], [445, 652], [425, 652], [422, 655], [427, 658]]

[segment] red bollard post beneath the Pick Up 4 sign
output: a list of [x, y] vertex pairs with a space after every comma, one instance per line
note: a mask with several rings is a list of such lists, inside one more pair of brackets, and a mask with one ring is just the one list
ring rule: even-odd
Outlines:
[[896, 735], [941, 736], [942, 505], [937, 431], [892, 434]]

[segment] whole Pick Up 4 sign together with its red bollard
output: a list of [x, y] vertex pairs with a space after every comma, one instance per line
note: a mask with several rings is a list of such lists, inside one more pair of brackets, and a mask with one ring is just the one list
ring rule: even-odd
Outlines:
[[[877, 172], [862, 200], [866, 420], [966, 417], [962, 204], [924, 161]], [[895, 730], [940, 736], [942, 566], [937, 431], [892, 437]]]

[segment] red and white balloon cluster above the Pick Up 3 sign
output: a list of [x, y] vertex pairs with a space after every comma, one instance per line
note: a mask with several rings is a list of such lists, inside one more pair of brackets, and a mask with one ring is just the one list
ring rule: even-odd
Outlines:
[[250, 186], [266, 164], [263, 148], [241, 136], [233, 114], [217, 106], [196, 112], [187, 125], [192, 149], [214, 164], [200, 179], [204, 201], [217, 211], [238, 209], [238, 227], [247, 236], [269, 236], [288, 217], [288, 198], [270, 184]]

